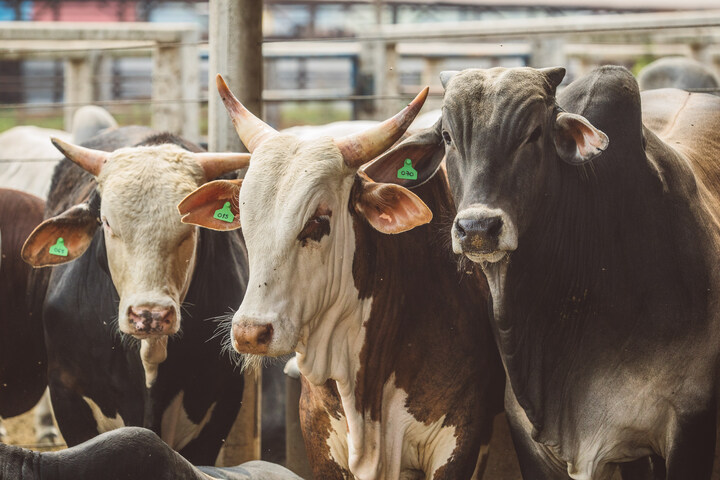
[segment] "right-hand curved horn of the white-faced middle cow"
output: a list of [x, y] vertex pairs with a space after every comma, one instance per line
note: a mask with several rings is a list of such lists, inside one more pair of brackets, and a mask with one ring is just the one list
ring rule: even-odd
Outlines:
[[397, 142], [415, 120], [415, 116], [425, 103], [428, 90], [429, 88], [425, 87], [400, 113], [380, 125], [364, 132], [335, 139], [335, 144], [340, 149], [345, 164], [348, 167], [360, 168], [364, 163], [374, 159]]

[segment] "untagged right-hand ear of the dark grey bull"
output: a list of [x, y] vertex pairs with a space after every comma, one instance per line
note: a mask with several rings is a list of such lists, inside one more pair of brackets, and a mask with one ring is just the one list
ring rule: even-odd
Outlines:
[[585, 117], [560, 112], [555, 120], [555, 149], [570, 165], [582, 165], [600, 155], [610, 140]]

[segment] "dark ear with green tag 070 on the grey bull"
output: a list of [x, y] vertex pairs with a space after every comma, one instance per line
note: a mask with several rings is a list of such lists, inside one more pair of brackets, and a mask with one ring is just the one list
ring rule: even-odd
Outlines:
[[435, 125], [411, 135], [361, 171], [380, 183], [394, 183], [414, 189], [430, 180], [445, 157], [442, 119]]

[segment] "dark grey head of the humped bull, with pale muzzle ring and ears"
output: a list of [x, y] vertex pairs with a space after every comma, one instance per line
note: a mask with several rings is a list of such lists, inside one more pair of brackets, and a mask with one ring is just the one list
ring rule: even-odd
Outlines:
[[607, 148], [603, 132], [555, 103], [564, 75], [564, 68], [443, 72], [442, 118], [387, 153], [444, 150], [458, 209], [455, 253], [482, 263], [505, 258], [543, 201], [543, 189], [552, 188], [551, 172], [582, 165]]

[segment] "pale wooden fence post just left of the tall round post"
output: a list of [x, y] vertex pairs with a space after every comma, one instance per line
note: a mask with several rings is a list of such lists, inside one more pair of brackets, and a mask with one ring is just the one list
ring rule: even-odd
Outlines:
[[[197, 28], [153, 52], [152, 125], [197, 141], [200, 136]], [[194, 101], [193, 101], [194, 100]]]

